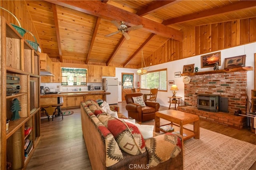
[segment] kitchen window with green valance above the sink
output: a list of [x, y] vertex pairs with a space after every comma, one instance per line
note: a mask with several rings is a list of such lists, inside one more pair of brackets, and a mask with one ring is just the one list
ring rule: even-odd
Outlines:
[[61, 85], [86, 85], [86, 69], [62, 67], [61, 73]]

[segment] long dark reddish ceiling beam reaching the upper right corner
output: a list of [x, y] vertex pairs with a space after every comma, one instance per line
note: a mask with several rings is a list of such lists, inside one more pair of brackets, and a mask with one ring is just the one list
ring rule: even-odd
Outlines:
[[230, 12], [236, 12], [238, 10], [243, 10], [243, 9], [249, 9], [249, 8], [255, 8], [256, 2], [254, 0], [243, 0], [240, 2], [237, 2], [235, 4], [230, 4], [226, 6], [222, 6], [220, 8], [213, 8], [211, 10], [206, 10], [194, 14], [189, 14], [185, 15], [182, 17], [178, 18], [173, 18], [169, 20], [165, 20], [162, 22], [164, 25], [170, 25], [170, 24], [177, 24], [177, 23], [182, 23], [182, 22], [188, 22], [188, 21], [193, 21], [193, 20], [198, 20], [202, 18], [207, 18], [209, 16], [216, 16], [219, 14], [226, 14]]

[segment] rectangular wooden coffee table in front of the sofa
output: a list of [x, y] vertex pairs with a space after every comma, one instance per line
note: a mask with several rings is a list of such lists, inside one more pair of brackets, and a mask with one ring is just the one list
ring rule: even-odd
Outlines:
[[[187, 140], [192, 137], [196, 139], [200, 138], [198, 115], [193, 115], [190, 113], [176, 110], [158, 111], [155, 115], [156, 132], [160, 132], [160, 130], [165, 132], [160, 128], [160, 118], [170, 121], [171, 123], [167, 125], [171, 125], [172, 127], [174, 127], [174, 132], [180, 131], [180, 134], [183, 136], [183, 140]], [[183, 125], [186, 125], [188, 123], [194, 124], [194, 130], [183, 127]]]

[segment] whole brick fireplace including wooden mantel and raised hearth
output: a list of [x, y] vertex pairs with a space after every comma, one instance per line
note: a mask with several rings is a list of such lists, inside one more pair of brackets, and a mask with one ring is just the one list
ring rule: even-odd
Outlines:
[[[246, 117], [235, 116], [234, 112], [241, 110], [246, 113], [247, 72], [252, 68], [234, 68], [201, 73], [182, 74], [190, 76], [190, 83], [184, 84], [185, 106], [178, 110], [199, 115], [200, 118], [219, 123], [228, 127], [241, 129], [246, 125]], [[228, 113], [198, 110], [198, 94], [219, 96], [227, 99]]]

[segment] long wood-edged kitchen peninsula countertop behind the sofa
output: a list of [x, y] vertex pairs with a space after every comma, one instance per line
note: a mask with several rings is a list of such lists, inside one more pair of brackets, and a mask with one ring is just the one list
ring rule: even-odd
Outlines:
[[59, 94], [45, 94], [40, 95], [40, 98], [45, 97], [66, 97], [66, 96], [81, 96], [81, 95], [109, 95], [109, 92], [105, 91], [70, 91], [70, 92], [61, 92]]

